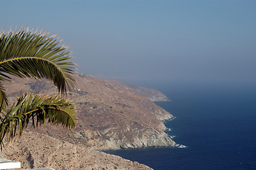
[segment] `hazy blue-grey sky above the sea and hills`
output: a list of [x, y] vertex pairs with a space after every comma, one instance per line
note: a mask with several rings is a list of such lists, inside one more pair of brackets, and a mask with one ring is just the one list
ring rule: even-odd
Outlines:
[[6, 0], [0, 19], [60, 35], [96, 77], [256, 82], [255, 0]]

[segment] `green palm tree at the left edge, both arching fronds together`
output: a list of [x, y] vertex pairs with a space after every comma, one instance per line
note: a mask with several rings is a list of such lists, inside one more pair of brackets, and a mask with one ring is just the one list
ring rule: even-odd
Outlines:
[[5, 138], [9, 142], [16, 135], [21, 136], [29, 122], [35, 127], [48, 120], [74, 128], [77, 120], [74, 105], [60, 96], [23, 94], [11, 106], [6, 97], [3, 83], [11, 81], [13, 76], [49, 79], [62, 95], [74, 88], [74, 64], [67, 61], [71, 58], [70, 52], [67, 52], [67, 47], [59, 45], [61, 41], [55, 35], [48, 38], [48, 34], [28, 28], [0, 32], [1, 149]]

